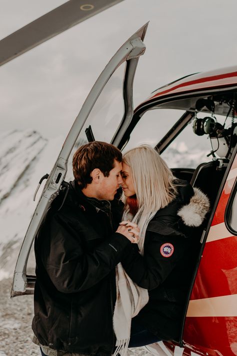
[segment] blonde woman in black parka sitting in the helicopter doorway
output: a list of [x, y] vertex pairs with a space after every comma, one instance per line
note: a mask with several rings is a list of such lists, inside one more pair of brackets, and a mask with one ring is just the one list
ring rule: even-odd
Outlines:
[[173, 177], [159, 154], [146, 145], [123, 156], [121, 175], [125, 204], [121, 224], [129, 220], [140, 229], [138, 244], [129, 246], [121, 263], [125, 278], [130, 277], [127, 289], [131, 279], [146, 303], [143, 308], [142, 303], [135, 305], [129, 347], [178, 340], [198, 252], [197, 227], [208, 211], [208, 199]]

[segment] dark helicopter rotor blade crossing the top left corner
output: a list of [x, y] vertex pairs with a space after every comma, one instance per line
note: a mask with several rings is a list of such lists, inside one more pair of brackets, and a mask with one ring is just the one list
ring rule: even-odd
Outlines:
[[123, 0], [69, 0], [0, 40], [0, 66]]

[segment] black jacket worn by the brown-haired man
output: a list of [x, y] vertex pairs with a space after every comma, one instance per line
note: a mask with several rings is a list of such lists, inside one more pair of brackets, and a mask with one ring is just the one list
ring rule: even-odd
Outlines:
[[[60, 195], [63, 195], [62, 192]], [[111, 202], [113, 224], [76, 183], [59, 195], [35, 239], [36, 283], [32, 329], [42, 345], [104, 356], [114, 347], [115, 270], [130, 241], [114, 233], [121, 205]]]

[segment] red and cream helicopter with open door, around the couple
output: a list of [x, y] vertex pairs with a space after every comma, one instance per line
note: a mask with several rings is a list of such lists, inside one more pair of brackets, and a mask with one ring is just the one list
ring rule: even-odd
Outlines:
[[[164, 157], [173, 154], [176, 140], [180, 143], [185, 142], [184, 136], [187, 141], [195, 138], [195, 145], [186, 143], [182, 150], [181, 163], [186, 164], [171, 169], [177, 178], [199, 187], [208, 196], [211, 208], [200, 233], [179, 339], [145, 347], [160, 356], [233, 356], [237, 354], [237, 66], [181, 78], [155, 90], [133, 110], [132, 85], [139, 57], [145, 53], [147, 25], [136, 31], [108, 62], [82, 105], [51, 172], [40, 179], [39, 185], [43, 179], [46, 183], [20, 249], [11, 296], [33, 293], [35, 276], [26, 273], [29, 251], [47, 209], [63, 185], [67, 162], [78, 137], [107, 141], [125, 152], [129, 145], [140, 143], [139, 132], [144, 141], [146, 132], [148, 137], [152, 131], [154, 138], [147, 140], [156, 140], [154, 146]], [[117, 78], [120, 68], [123, 113], [111, 115], [114, 102], [106, 100], [111, 106], [104, 109], [107, 116], [100, 115], [99, 101], [103, 94], [106, 98], [109, 83], [114, 76]], [[167, 126], [168, 130], [162, 133], [161, 128]], [[200, 162], [194, 167], [188, 157], [195, 153], [196, 146], [202, 145], [203, 138], [210, 152], [205, 161], [199, 157]]]

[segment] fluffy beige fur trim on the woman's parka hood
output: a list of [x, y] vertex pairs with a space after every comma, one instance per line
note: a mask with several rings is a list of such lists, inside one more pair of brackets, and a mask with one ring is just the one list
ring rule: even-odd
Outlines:
[[178, 210], [177, 215], [181, 217], [186, 226], [200, 226], [206, 213], [209, 211], [210, 203], [207, 196], [198, 188], [193, 188], [194, 195], [188, 204]]

